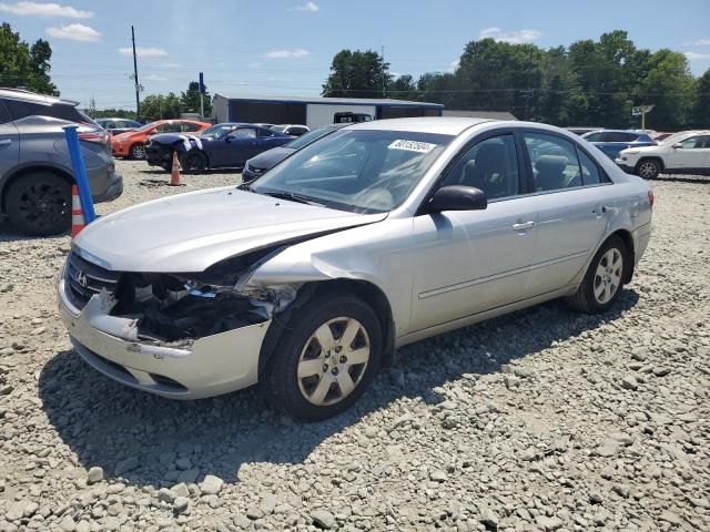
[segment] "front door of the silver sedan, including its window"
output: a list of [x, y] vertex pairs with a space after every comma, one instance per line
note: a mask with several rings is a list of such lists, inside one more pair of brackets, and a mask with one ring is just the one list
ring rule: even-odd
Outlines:
[[475, 140], [439, 186], [480, 188], [487, 208], [415, 216], [413, 330], [530, 296], [537, 215], [534, 198], [520, 195], [521, 161], [511, 131]]

